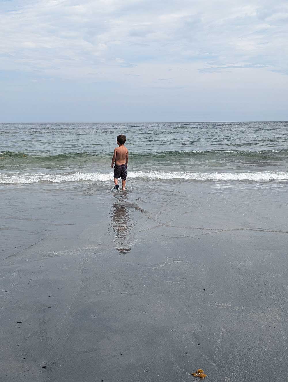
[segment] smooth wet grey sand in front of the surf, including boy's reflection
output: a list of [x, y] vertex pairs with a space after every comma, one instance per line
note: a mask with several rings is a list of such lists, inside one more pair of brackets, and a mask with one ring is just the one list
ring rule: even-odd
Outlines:
[[34, 212], [21, 190], [2, 199], [22, 212], [0, 232], [1, 380], [288, 378], [283, 224], [257, 228], [235, 207], [234, 225], [207, 226], [208, 207], [165, 215], [140, 195], [91, 194], [54, 195], [51, 210], [39, 193]]

